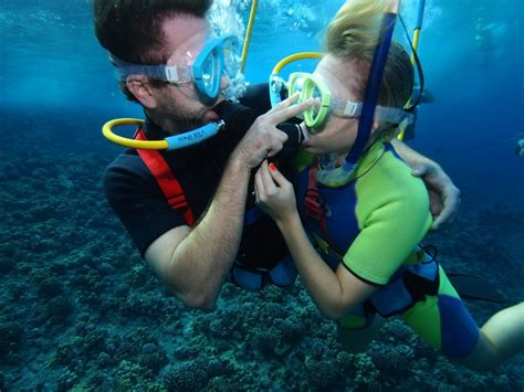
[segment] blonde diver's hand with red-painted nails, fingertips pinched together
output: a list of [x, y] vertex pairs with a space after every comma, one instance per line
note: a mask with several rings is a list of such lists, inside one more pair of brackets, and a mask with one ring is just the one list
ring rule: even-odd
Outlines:
[[254, 177], [254, 192], [256, 205], [277, 224], [298, 214], [292, 183], [266, 160]]

